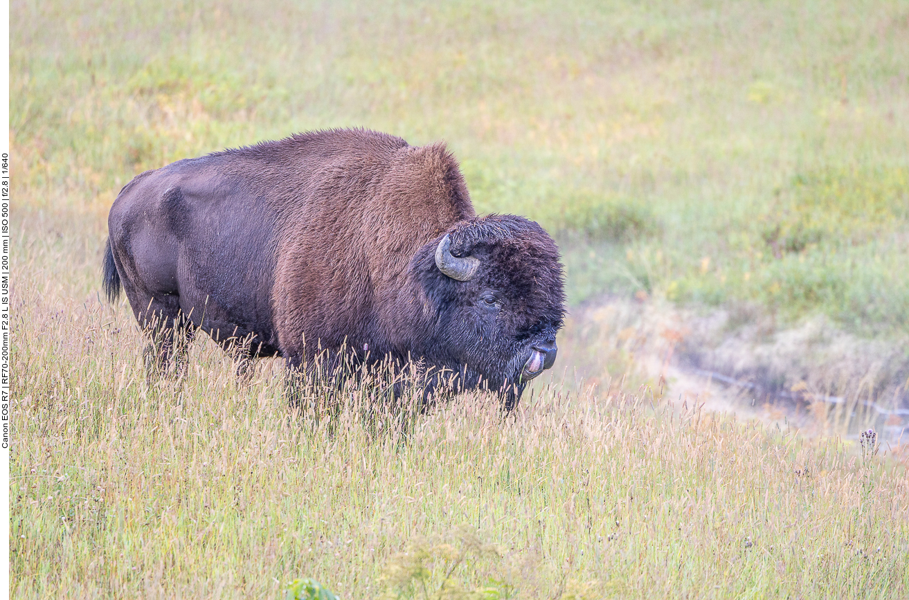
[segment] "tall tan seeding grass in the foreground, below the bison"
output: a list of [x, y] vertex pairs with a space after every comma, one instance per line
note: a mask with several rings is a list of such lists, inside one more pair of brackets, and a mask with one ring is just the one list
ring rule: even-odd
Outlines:
[[909, 591], [900, 455], [553, 382], [513, 419], [463, 396], [404, 438], [359, 389], [314, 429], [280, 365], [238, 389], [211, 342], [146, 384], [125, 306], [71, 302], [94, 269], [40, 266], [16, 273], [15, 597], [277, 597], [301, 575], [351, 598]]

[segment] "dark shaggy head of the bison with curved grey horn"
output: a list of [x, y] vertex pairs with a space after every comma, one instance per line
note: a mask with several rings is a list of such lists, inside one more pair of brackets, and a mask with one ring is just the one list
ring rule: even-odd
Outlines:
[[475, 218], [421, 248], [415, 268], [433, 322], [427, 358], [513, 408], [555, 361], [564, 290], [553, 239], [520, 216]]

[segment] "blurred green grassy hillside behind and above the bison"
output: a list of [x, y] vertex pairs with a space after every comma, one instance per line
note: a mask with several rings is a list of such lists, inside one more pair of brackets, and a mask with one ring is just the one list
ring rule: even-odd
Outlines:
[[295, 131], [443, 138], [604, 292], [909, 323], [909, 8], [15, 2], [20, 206]]

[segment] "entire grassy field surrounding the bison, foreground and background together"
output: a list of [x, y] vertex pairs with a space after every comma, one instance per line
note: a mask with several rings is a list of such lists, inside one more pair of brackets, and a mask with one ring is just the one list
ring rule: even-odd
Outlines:
[[[10, 21], [14, 597], [909, 595], [905, 440], [823, 403], [813, 435], [708, 413], [641, 360], [660, 339], [664, 366], [719, 369], [729, 340], [823, 323], [812, 353], [846, 350], [795, 345], [765, 378], [906, 405], [904, 3], [54, 0]], [[239, 386], [201, 339], [183, 380], [146, 381], [128, 306], [100, 297], [120, 187], [360, 125], [445, 139], [480, 212], [553, 233], [558, 373], [514, 417], [460, 397], [406, 434], [369, 386], [314, 425], [280, 365]], [[615, 306], [689, 316], [638, 344]]]

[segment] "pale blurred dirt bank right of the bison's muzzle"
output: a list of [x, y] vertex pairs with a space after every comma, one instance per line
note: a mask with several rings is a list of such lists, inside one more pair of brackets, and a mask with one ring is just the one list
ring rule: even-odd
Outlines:
[[909, 340], [864, 339], [824, 317], [778, 329], [761, 315], [608, 298], [575, 309], [560, 346], [587, 385], [650, 386], [809, 435], [909, 438]]

